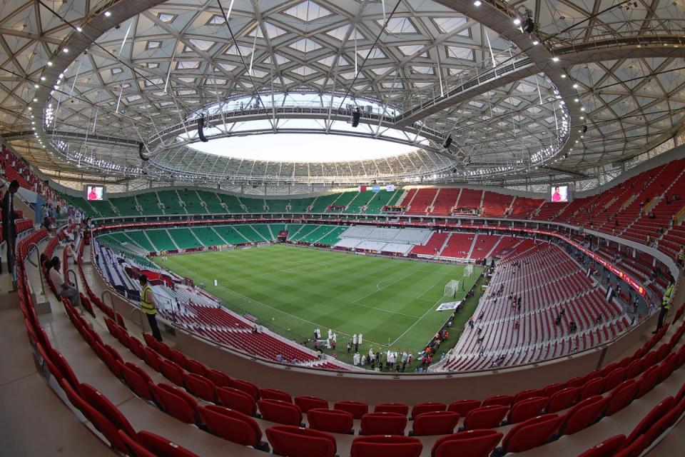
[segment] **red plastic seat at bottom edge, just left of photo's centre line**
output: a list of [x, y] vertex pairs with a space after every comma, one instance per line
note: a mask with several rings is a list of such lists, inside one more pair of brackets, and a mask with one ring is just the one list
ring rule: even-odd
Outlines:
[[333, 457], [335, 438], [323, 431], [296, 426], [273, 426], [266, 429], [273, 453], [288, 457]]

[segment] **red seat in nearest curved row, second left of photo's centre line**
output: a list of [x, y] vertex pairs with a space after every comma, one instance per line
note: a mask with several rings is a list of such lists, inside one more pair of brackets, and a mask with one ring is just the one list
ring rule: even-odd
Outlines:
[[250, 416], [217, 405], [202, 406], [198, 413], [210, 433], [243, 446], [263, 448], [262, 431]]

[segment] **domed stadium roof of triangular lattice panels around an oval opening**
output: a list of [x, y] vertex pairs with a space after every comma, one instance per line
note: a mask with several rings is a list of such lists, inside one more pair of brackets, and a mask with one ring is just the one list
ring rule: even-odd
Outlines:
[[[9, 0], [0, 125], [49, 172], [587, 177], [682, 128], [684, 17], [670, 0]], [[414, 151], [275, 171], [188, 149], [201, 117], [210, 138], [336, 132]]]

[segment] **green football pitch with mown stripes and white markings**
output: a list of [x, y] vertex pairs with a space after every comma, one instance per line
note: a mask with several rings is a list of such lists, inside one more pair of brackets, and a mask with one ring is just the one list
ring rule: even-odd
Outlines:
[[364, 335], [360, 353], [369, 347], [384, 351], [388, 344], [395, 351], [421, 351], [450, 317], [451, 311], [435, 311], [440, 303], [454, 300], [443, 296], [447, 282], [464, 282], [457, 293], [461, 300], [482, 271], [475, 266], [472, 276], [462, 278], [460, 265], [283, 244], [156, 261], [203, 284], [233, 311], [250, 313], [258, 323], [300, 343], [312, 338], [316, 327], [323, 338], [332, 328], [344, 360], [353, 333]]

